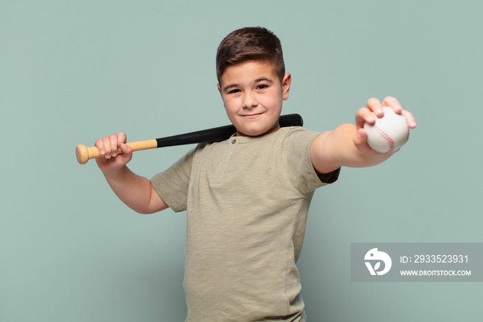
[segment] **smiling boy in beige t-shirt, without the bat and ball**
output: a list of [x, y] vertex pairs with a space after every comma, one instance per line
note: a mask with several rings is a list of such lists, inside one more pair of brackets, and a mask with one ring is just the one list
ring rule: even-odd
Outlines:
[[[279, 39], [264, 28], [242, 28], [217, 50], [218, 91], [237, 133], [199, 144], [151, 180], [126, 164], [126, 135], [96, 142], [99, 169], [117, 196], [141, 214], [187, 210], [184, 288], [186, 321], [306, 321], [295, 263], [302, 249], [313, 191], [337, 180], [339, 169], [389, 158], [366, 144], [364, 122], [382, 106], [411, 113], [397, 100], [368, 100], [355, 124], [315, 133], [280, 128], [285, 73]], [[121, 153], [121, 154], [119, 154]]]

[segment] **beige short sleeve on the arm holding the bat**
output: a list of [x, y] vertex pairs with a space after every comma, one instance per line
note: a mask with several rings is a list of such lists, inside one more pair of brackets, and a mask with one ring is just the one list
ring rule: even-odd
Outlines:
[[171, 167], [151, 178], [152, 187], [173, 211], [186, 210], [194, 154], [195, 149], [192, 149]]

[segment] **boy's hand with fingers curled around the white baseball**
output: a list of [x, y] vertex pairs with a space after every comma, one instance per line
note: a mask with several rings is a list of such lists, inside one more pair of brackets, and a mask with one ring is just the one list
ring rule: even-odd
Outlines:
[[399, 102], [394, 97], [388, 96], [384, 98], [384, 101], [382, 101], [382, 103], [375, 98], [371, 98], [367, 101], [366, 107], [359, 108], [359, 111], [357, 111], [357, 113], [355, 114], [355, 125], [357, 127], [357, 134], [354, 138], [354, 144], [357, 149], [359, 149], [359, 151], [363, 153], [376, 152], [371, 149], [371, 147], [369, 147], [366, 143], [367, 131], [364, 130], [364, 123], [375, 123], [376, 119], [373, 113], [375, 113], [377, 117], [382, 117], [384, 115], [384, 112], [382, 111], [382, 106], [390, 106], [391, 108], [393, 108], [395, 113], [404, 115], [404, 117], [406, 117], [406, 121], [408, 122], [409, 128], [414, 129], [416, 127], [416, 122], [414, 120], [413, 114], [403, 110], [401, 104], [399, 104]]

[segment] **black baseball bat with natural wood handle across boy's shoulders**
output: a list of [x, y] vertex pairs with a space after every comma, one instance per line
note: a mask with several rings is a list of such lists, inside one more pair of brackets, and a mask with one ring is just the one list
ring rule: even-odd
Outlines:
[[[279, 117], [280, 126], [302, 126], [304, 120], [302, 116], [298, 114], [281, 115]], [[127, 142], [126, 145], [132, 148], [132, 151], [141, 151], [147, 149], [162, 148], [165, 146], [177, 146], [184, 144], [197, 144], [204, 142], [220, 142], [230, 138], [237, 129], [233, 124], [226, 126], [219, 126], [213, 129], [206, 129], [201, 131], [195, 131], [190, 133], [184, 133], [179, 135], [172, 135], [166, 138], [158, 138], [146, 141]], [[86, 164], [88, 160], [101, 158], [103, 155], [99, 153], [97, 146], [86, 147], [83, 144], [79, 144], [75, 148], [75, 155], [77, 162], [80, 164]]]

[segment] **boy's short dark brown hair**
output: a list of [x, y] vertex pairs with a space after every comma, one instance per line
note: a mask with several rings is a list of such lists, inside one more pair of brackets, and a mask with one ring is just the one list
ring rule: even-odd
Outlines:
[[270, 61], [280, 82], [284, 79], [284, 55], [278, 37], [266, 28], [247, 27], [231, 32], [219, 44], [217, 50], [218, 82], [228, 66], [249, 60]]

